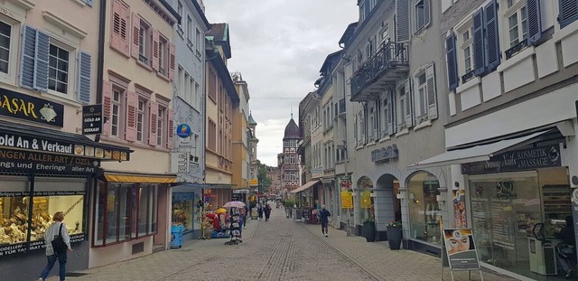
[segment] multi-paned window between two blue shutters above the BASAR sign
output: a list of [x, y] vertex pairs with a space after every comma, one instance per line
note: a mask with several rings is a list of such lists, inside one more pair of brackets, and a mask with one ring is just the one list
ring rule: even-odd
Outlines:
[[70, 52], [50, 45], [48, 64], [48, 89], [68, 93]]

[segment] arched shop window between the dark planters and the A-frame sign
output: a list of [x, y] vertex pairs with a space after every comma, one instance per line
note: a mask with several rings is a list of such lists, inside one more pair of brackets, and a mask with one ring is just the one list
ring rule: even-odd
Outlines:
[[411, 239], [440, 244], [438, 219], [441, 210], [437, 203], [440, 183], [427, 172], [415, 173], [407, 183], [409, 191], [409, 231]]

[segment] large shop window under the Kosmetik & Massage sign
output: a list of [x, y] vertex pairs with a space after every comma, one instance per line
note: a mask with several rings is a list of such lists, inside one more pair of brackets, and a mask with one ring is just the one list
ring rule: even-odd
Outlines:
[[528, 238], [542, 220], [537, 173], [472, 175], [468, 180], [480, 260], [527, 276]]

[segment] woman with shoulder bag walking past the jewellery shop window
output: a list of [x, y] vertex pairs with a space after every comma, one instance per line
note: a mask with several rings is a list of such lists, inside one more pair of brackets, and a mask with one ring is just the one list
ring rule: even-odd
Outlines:
[[[44, 232], [44, 243], [46, 244], [46, 258], [48, 259], [48, 264], [42, 270], [42, 274], [40, 278], [38, 278], [38, 281], [44, 281], [46, 277], [48, 277], [57, 259], [58, 264], [61, 267], [59, 275], [61, 276], [61, 281], [63, 281], [66, 276], [67, 252], [72, 251], [72, 248], [70, 248], [69, 231], [66, 229], [66, 225], [62, 222], [62, 220], [64, 220], [64, 213], [57, 211], [54, 213], [54, 216], [52, 216], [52, 220], [52, 224], [48, 227], [48, 229], [46, 229], [46, 232]], [[66, 251], [59, 254], [56, 253], [51, 244], [51, 241], [54, 239], [54, 237], [58, 235], [61, 235], [64, 243], [66, 243], [66, 246], [68, 246]]]

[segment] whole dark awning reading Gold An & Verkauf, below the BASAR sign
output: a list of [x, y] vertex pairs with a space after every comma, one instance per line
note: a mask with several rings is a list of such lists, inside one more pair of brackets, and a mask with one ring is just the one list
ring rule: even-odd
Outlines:
[[0, 120], [0, 136], [4, 139], [0, 147], [100, 161], [128, 161], [133, 152], [128, 147], [98, 143], [84, 135], [4, 120]]

